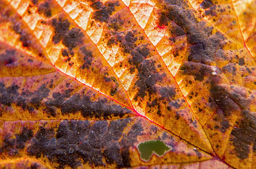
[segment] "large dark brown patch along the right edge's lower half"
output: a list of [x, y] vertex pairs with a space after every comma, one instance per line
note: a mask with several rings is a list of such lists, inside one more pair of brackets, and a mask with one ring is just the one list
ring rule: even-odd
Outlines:
[[221, 127], [215, 126], [215, 130], [225, 133], [231, 126], [228, 121], [229, 116], [241, 110], [241, 114], [237, 114], [236, 127], [231, 132], [233, 137], [230, 140], [234, 145], [233, 153], [236, 153], [241, 160], [248, 158], [250, 145], [255, 146], [256, 139], [256, 118], [249, 110], [250, 99], [241, 88], [231, 86], [229, 90], [220, 84], [212, 85], [210, 94], [209, 102], [217, 105], [217, 114], [221, 124]]

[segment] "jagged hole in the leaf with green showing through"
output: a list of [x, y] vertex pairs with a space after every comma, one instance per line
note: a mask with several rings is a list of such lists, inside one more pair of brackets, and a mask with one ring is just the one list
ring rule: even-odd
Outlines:
[[172, 147], [166, 145], [161, 140], [149, 140], [139, 143], [137, 149], [140, 153], [140, 158], [143, 161], [149, 161], [153, 154], [156, 154], [158, 157], [163, 156], [166, 152], [172, 149]]

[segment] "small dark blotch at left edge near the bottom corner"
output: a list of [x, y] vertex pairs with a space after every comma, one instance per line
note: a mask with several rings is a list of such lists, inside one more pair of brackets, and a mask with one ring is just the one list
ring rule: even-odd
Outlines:
[[27, 141], [33, 137], [33, 132], [28, 127], [23, 127], [22, 132], [20, 134], [16, 134], [15, 137], [7, 134], [3, 138], [2, 145], [0, 146], [0, 154], [3, 152], [7, 152], [8, 155], [13, 156], [19, 154], [19, 150], [25, 148]]

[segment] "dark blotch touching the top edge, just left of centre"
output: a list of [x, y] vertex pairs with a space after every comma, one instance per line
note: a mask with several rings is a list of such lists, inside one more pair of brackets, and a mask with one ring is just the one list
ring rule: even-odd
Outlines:
[[116, 6], [119, 6], [119, 2], [106, 2], [104, 5], [97, 1], [91, 5], [94, 10], [92, 18], [96, 21], [105, 22], [110, 15], [116, 10]]

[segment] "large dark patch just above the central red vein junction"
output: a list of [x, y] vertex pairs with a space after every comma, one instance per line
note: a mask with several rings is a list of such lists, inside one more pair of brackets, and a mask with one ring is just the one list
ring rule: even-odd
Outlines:
[[[149, 54], [148, 51], [139, 50], [142, 54], [139, 55], [141, 58]], [[138, 51], [137, 51], [138, 52]], [[135, 55], [134, 55], [135, 56]], [[140, 58], [140, 57], [135, 57]], [[156, 61], [144, 59], [141, 63], [138, 60], [130, 60], [134, 61], [134, 68], [136, 65], [138, 66], [138, 80], [135, 82], [135, 87], [138, 87], [138, 92], [134, 96], [134, 100], [138, 101], [138, 99], [142, 99], [147, 94], [149, 95], [147, 106], [151, 108], [152, 106], [157, 106], [158, 111], [157, 114], [160, 113], [160, 102], [163, 101], [172, 101], [176, 95], [176, 91], [173, 87], [170, 86], [161, 86], [161, 82], [164, 77], [166, 77], [165, 73], [159, 73], [156, 70]], [[139, 63], [139, 64], [138, 64]], [[132, 71], [132, 70], [130, 70]], [[157, 96], [157, 97], [155, 97]]]

